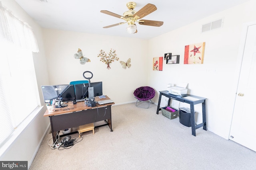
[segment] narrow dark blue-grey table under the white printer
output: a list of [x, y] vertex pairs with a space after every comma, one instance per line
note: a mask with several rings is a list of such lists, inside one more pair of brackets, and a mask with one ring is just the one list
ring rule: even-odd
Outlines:
[[[206, 130], [206, 108], [205, 108], [206, 98], [202, 98], [202, 97], [199, 97], [199, 96], [194, 96], [194, 95], [187, 94], [187, 96], [190, 96], [192, 98], [198, 99], [198, 100], [189, 100], [189, 99], [186, 99], [186, 98], [182, 98], [181, 96], [176, 96], [174, 94], [170, 94], [170, 93], [168, 93], [167, 90], [160, 91], [156, 114], [158, 114], [159, 110], [161, 110], [160, 102], [161, 102], [162, 96], [166, 96], [167, 98], [169, 98], [168, 106], [170, 106], [171, 99], [177, 100], [177, 101], [180, 101], [180, 102], [184, 102], [184, 103], [187, 103], [187, 104], [190, 104], [190, 112], [191, 112], [191, 119], [190, 119], [190, 121], [191, 121], [192, 135], [196, 136], [196, 129], [198, 129], [200, 127], [203, 127], [203, 129]], [[194, 105], [195, 104], [200, 104], [200, 103], [202, 103], [203, 122], [198, 124], [198, 125], [196, 125], [195, 124], [195, 115], [192, 114], [192, 113], [194, 113]]]

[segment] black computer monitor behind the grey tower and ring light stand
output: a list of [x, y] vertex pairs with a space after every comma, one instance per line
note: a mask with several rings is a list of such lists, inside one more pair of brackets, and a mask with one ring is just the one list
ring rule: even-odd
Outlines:
[[[88, 98], [88, 83], [75, 84], [76, 102], [80, 102]], [[102, 82], [90, 83], [90, 86], [94, 88], [94, 97], [102, 95]]]

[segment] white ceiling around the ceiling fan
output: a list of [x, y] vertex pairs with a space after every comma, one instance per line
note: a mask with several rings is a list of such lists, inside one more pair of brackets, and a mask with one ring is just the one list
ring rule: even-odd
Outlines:
[[[124, 20], [103, 14], [100, 10], [108, 10], [122, 16], [125, 11], [128, 11], [126, 3], [129, 0], [44, 1], [47, 2], [42, 2], [42, 0], [16, 0], [44, 28], [150, 39], [249, 0], [134, 1], [137, 4], [135, 11], [140, 10], [148, 3], [157, 7], [157, 10], [145, 16], [144, 20], [164, 21], [161, 27], [136, 24], [138, 33], [135, 34], [126, 32], [127, 23], [115, 27], [102, 28], [107, 25], [124, 22]], [[216, 20], [218, 19], [216, 18]]]

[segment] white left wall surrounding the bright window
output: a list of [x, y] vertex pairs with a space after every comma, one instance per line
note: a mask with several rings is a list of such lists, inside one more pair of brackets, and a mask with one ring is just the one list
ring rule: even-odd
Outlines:
[[[15, 2], [15, 0], [1, 0], [2, 5], [13, 12], [15, 16], [20, 20], [27, 22], [33, 29], [38, 41], [38, 47], [40, 52], [33, 53], [34, 66], [36, 71], [36, 78], [38, 83], [38, 90], [40, 99], [42, 100], [41, 85], [48, 84], [48, 73], [46, 68], [46, 59], [44, 54], [43, 40], [42, 40], [42, 29], [35, 23], [32, 18], [28, 16], [26, 12]], [[24, 83], [24, 82], [20, 82]], [[41, 104], [44, 106], [44, 103]], [[11, 138], [7, 141], [9, 145], [6, 152], [0, 155], [0, 160], [13, 160], [13, 161], [28, 161], [30, 165], [36, 155], [38, 148], [40, 147], [41, 141], [50, 125], [48, 117], [43, 117], [46, 108], [40, 110], [36, 115], [29, 117], [29, 121], [25, 121], [27, 124], [19, 125], [16, 129], [17, 139], [12, 141]], [[24, 128], [25, 127], [25, 128]], [[18, 134], [17, 134], [18, 133]], [[6, 145], [5, 145], [6, 146]], [[2, 148], [3, 146], [1, 146]]]

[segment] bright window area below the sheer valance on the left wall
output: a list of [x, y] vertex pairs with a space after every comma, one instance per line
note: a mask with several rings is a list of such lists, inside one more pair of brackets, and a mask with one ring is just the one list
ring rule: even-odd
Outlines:
[[0, 136], [8, 137], [38, 106], [38, 87], [32, 52], [6, 42], [0, 46]]

